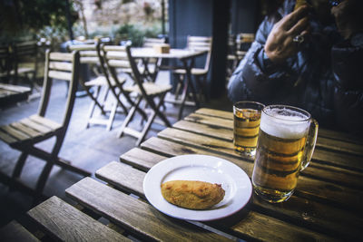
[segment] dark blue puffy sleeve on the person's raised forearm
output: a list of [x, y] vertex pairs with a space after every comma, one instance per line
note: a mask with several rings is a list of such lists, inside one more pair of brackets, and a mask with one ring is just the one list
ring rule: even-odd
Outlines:
[[271, 89], [279, 86], [281, 76], [285, 73], [279, 68], [267, 68], [264, 63], [264, 45], [273, 24], [268, 18], [260, 24], [255, 41], [251, 44], [246, 56], [231, 75], [228, 84], [228, 95], [232, 102], [253, 99], [263, 102], [269, 99]]

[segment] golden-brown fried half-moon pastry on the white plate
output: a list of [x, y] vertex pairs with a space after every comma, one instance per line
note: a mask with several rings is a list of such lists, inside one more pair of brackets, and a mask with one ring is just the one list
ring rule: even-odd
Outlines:
[[221, 184], [199, 180], [171, 180], [162, 183], [162, 197], [182, 208], [211, 208], [224, 198], [224, 193]]

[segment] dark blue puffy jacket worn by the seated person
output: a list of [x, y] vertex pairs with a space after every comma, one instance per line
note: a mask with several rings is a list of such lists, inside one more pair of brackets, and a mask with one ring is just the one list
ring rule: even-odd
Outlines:
[[363, 49], [344, 43], [334, 24], [310, 21], [309, 42], [285, 63], [274, 65], [264, 53], [273, 24], [288, 15], [295, 1], [285, 1], [276, 18], [260, 24], [250, 50], [232, 74], [232, 102], [252, 100], [264, 104], [289, 104], [306, 111], [322, 126], [362, 131]]

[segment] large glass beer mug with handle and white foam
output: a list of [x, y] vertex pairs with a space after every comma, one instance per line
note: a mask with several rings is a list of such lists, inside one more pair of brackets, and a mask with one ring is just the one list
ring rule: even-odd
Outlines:
[[270, 105], [262, 110], [252, 172], [257, 195], [273, 203], [292, 195], [300, 170], [311, 160], [318, 127], [309, 112], [299, 108]]

